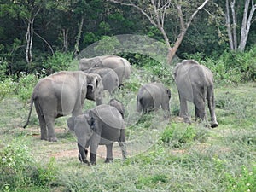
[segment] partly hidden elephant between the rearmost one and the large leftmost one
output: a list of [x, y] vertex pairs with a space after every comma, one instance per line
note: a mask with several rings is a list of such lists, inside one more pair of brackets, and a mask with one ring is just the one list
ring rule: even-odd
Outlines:
[[102, 78], [103, 90], [108, 90], [112, 94], [119, 87], [119, 77], [108, 67], [93, 67], [84, 71], [85, 73], [97, 73]]

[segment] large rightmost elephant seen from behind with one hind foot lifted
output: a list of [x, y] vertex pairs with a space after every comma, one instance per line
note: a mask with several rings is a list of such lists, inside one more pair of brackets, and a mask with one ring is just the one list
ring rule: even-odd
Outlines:
[[211, 114], [211, 127], [217, 127], [213, 88], [213, 74], [207, 67], [194, 60], [184, 60], [174, 68], [174, 79], [180, 101], [180, 113], [184, 121], [190, 123], [187, 101], [195, 105], [195, 118], [207, 120], [206, 99]]

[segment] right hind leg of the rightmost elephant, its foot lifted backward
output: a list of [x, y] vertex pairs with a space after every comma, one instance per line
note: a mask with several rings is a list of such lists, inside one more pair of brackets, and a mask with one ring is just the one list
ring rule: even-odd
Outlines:
[[218, 122], [215, 115], [215, 100], [214, 100], [213, 87], [210, 87], [207, 89], [207, 102], [208, 102], [208, 108], [211, 114], [211, 127], [215, 128], [218, 126]]

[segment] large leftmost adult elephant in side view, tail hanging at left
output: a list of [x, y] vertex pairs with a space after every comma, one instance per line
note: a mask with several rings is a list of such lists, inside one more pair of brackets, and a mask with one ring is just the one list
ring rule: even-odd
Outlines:
[[55, 118], [70, 113], [73, 116], [82, 114], [85, 98], [96, 101], [97, 105], [102, 104], [102, 90], [102, 79], [95, 73], [63, 71], [40, 79], [32, 92], [26, 125], [34, 103], [38, 113], [41, 139], [56, 142]]

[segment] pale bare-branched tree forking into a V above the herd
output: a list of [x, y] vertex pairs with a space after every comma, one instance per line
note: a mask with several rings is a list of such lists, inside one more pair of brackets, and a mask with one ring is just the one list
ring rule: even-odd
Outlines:
[[[194, 19], [195, 15], [205, 7], [210, 0], [201, 1], [186, 1], [186, 0], [108, 0], [113, 3], [119, 3], [125, 6], [131, 6], [137, 9], [143, 14], [153, 26], [156, 26], [165, 42], [169, 54], [167, 56], [167, 62], [171, 63], [172, 58], [177, 52], [178, 47], [183, 41], [183, 38]], [[175, 42], [171, 43], [166, 29], [166, 19], [172, 17], [172, 19], [179, 21], [179, 32]], [[173, 44], [173, 45], [172, 45]]]

